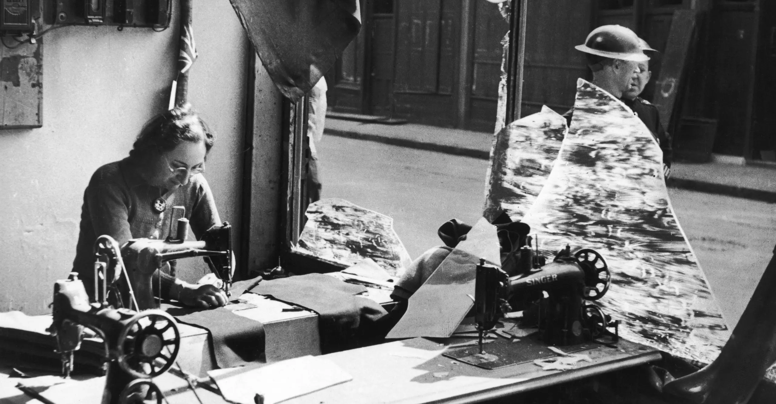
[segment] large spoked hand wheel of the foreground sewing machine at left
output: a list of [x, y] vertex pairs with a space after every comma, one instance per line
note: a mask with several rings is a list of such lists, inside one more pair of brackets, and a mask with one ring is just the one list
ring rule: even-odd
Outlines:
[[116, 343], [119, 366], [136, 378], [153, 378], [175, 363], [180, 343], [178, 327], [170, 315], [161, 310], [140, 312], [121, 330]]

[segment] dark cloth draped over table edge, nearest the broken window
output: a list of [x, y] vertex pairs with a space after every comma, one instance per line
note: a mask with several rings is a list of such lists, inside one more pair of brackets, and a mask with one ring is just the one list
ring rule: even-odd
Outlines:
[[264, 280], [251, 289], [317, 312], [324, 353], [370, 336], [374, 331], [370, 327], [387, 314], [376, 301], [355, 296], [365, 291], [361, 285], [347, 284], [323, 273]]

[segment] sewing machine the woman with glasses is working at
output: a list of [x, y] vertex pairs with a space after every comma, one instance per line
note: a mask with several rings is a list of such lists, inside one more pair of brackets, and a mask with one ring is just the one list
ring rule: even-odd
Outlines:
[[[129, 276], [129, 293], [137, 298], [140, 310], [158, 308], [154, 298], [153, 274], [173, 259], [203, 256], [216, 276], [222, 280], [221, 288], [230, 295], [232, 284], [231, 225], [223, 222], [203, 234], [199, 241], [186, 241], [189, 221], [178, 219], [176, 237], [165, 240], [131, 239], [121, 249], [123, 263]], [[158, 285], [161, 288], [161, 285]], [[126, 301], [126, 300], [125, 300]]]

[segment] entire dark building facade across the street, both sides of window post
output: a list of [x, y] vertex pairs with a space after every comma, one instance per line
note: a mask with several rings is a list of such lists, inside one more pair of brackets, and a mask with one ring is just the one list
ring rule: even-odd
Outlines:
[[[712, 151], [776, 160], [776, 5], [766, 0], [528, 0], [522, 115], [573, 104], [590, 78], [574, 45], [596, 26], [619, 24], [660, 51], [650, 62], [652, 99], [674, 12], [696, 11], [696, 28], [669, 124], [674, 140], [712, 123]], [[329, 72], [332, 110], [480, 131], [494, 128], [508, 19], [486, 0], [375, 0], [364, 29]], [[667, 120], [664, 117], [663, 120]]]

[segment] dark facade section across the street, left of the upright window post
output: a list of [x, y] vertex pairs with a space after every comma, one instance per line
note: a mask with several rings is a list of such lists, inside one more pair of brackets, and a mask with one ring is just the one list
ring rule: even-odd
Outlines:
[[375, 0], [363, 13], [358, 40], [327, 75], [334, 111], [493, 130], [508, 31], [498, 5]]

